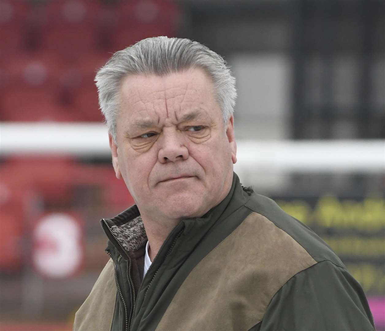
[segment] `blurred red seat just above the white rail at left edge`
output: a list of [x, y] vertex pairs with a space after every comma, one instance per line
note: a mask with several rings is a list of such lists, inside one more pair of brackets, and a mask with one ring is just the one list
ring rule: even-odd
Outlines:
[[44, 52], [22, 53], [5, 64], [7, 85], [0, 95], [0, 119], [66, 120], [60, 105], [62, 63]]

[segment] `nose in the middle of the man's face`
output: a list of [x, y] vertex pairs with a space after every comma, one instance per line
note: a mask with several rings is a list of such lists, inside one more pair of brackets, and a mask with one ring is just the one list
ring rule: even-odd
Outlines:
[[[171, 129], [171, 128], [169, 128]], [[187, 160], [189, 151], [184, 144], [184, 136], [177, 130], [163, 130], [160, 137], [160, 148], [158, 159], [161, 163], [176, 162], [179, 160]]]

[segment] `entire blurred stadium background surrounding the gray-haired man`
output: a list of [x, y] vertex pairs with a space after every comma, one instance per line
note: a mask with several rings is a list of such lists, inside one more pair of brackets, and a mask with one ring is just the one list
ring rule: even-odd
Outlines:
[[319, 234], [385, 330], [383, 0], [0, 0], [0, 329], [70, 330], [133, 204], [95, 71], [157, 35], [237, 79], [241, 182]]

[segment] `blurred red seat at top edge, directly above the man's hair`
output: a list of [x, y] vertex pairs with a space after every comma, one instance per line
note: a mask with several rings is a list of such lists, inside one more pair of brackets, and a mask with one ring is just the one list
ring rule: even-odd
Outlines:
[[175, 3], [162, 0], [122, 1], [117, 5], [112, 48], [123, 49], [147, 37], [177, 32], [179, 10]]

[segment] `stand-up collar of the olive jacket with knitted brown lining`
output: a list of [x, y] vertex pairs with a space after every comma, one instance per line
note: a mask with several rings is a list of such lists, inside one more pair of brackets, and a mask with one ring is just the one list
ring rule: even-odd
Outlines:
[[[239, 178], [234, 172], [231, 189], [223, 201], [202, 217], [183, 219], [177, 227], [184, 227], [184, 235], [195, 236], [197, 233], [204, 235], [219, 219], [219, 216], [227, 217], [245, 204], [250, 190], [241, 186]], [[122, 256], [128, 256], [129, 252], [139, 250], [147, 242], [146, 231], [136, 205], [111, 219], [102, 219], [100, 223], [110, 242]], [[195, 241], [193, 240], [191, 244], [193, 245]], [[189, 246], [187, 242], [186, 244]]]

